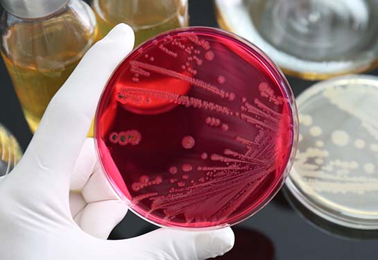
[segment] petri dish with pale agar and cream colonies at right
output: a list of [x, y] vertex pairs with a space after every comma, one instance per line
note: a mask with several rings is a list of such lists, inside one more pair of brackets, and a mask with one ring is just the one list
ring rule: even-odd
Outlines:
[[298, 153], [286, 181], [314, 214], [378, 229], [378, 77], [343, 76], [297, 98]]

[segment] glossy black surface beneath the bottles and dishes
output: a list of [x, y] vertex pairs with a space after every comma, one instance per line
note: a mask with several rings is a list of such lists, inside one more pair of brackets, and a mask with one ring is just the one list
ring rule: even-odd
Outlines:
[[[189, 14], [191, 26], [218, 26], [212, 1], [189, 0]], [[378, 71], [370, 71], [370, 74], [378, 75]], [[307, 80], [288, 78], [295, 96], [313, 84]], [[32, 135], [2, 61], [0, 122], [25, 149]], [[287, 194], [285, 189], [255, 216], [233, 227], [236, 234], [234, 250], [219, 259], [378, 259], [378, 236], [375, 232], [336, 227], [308, 211], [302, 210], [300, 214], [298, 207], [292, 206], [295, 201], [291, 200], [289, 204], [284, 193]], [[129, 212], [114, 229], [110, 239], [126, 239], [155, 228]]]

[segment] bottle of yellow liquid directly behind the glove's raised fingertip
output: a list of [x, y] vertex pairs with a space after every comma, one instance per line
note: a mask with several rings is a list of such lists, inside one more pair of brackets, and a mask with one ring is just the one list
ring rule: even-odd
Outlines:
[[135, 46], [174, 28], [188, 26], [187, 0], [92, 0], [101, 37], [125, 23], [135, 33]]

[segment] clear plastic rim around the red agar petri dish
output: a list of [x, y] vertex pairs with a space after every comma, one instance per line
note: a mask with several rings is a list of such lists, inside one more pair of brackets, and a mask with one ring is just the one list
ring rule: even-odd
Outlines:
[[[243, 46], [248, 53], [253, 55], [257, 60], [261, 62], [261, 64], [266, 67], [266, 69], [269, 71], [270, 74], [272, 74], [272, 77], [275, 79], [277, 85], [280, 85], [282, 89], [284, 90], [283, 94], [285, 95], [285, 98], [287, 99], [289, 103], [289, 108], [291, 110], [291, 120], [293, 123], [293, 134], [292, 134], [292, 140], [293, 145], [291, 146], [290, 155], [287, 157], [286, 167], [284, 168], [284, 171], [282, 173], [282, 177], [277, 180], [274, 184], [272, 184], [272, 187], [270, 190], [266, 193], [264, 197], [262, 197], [258, 202], [255, 202], [255, 205], [250, 206], [250, 214], [246, 214], [246, 216], [234, 216], [233, 218], [230, 218], [227, 223], [221, 223], [220, 225], [214, 225], [214, 226], [206, 226], [206, 227], [185, 227], [184, 225], [167, 225], [166, 223], [162, 222], [160, 218], [157, 218], [153, 215], [144, 216], [146, 214], [146, 211], [144, 209], [140, 209], [136, 205], [133, 205], [133, 203], [126, 198], [126, 196], [123, 194], [123, 192], [117, 187], [117, 184], [115, 184], [114, 180], [110, 177], [106, 170], [106, 166], [103, 164], [103, 160], [101, 159], [101, 150], [98, 148], [98, 140], [101, 139], [99, 137], [98, 133], [98, 125], [99, 125], [99, 119], [98, 114], [101, 112], [101, 104], [103, 101], [103, 97], [107, 94], [108, 89], [110, 89], [110, 86], [112, 85], [112, 82], [116, 80], [115, 76], [117, 75], [119, 68], [121, 65], [130, 58], [131, 55], [134, 55], [134, 53], [137, 53], [140, 49], [148, 49], [148, 46], [152, 46], [153, 43], [156, 40], [163, 39], [167, 35], [172, 34], [180, 34], [180, 33], [210, 33], [210, 34], [216, 34], [217, 36], [227, 37], [228, 39], [233, 40], [234, 42], [239, 42], [241, 46]], [[255, 53], [253, 53], [255, 52]], [[262, 61], [261, 61], [262, 60]], [[95, 140], [95, 146], [96, 146], [96, 156], [98, 157], [98, 161], [101, 164], [101, 168], [103, 172], [105, 173], [105, 176], [110, 184], [110, 187], [112, 187], [114, 193], [116, 193], [117, 197], [126, 203], [128, 205], [129, 209], [135, 213], [140, 218], [148, 221], [149, 223], [152, 223], [153, 225], [157, 225], [159, 227], [174, 227], [175, 229], [184, 229], [184, 230], [209, 230], [209, 229], [219, 229], [223, 227], [227, 227], [230, 225], [236, 225], [238, 223], [241, 223], [243, 220], [246, 220], [247, 218], [250, 218], [250, 216], [256, 214], [260, 209], [265, 207], [270, 200], [274, 198], [274, 196], [277, 194], [278, 191], [283, 187], [286, 178], [289, 176], [289, 172], [291, 170], [291, 167], [293, 166], [293, 161], [295, 158], [295, 153], [298, 147], [298, 137], [299, 137], [299, 119], [298, 119], [298, 109], [297, 105], [295, 103], [295, 98], [293, 91], [289, 85], [288, 80], [284, 76], [284, 73], [282, 73], [281, 69], [277, 67], [277, 65], [270, 59], [268, 56], [259, 49], [259, 47], [255, 46], [255, 44], [252, 44], [248, 40], [244, 39], [243, 37], [240, 37], [239, 35], [236, 35], [234, 33], [230, 33], [227, 31], [223, 31], [222, 29], [218, 28], [212, 28], [212, 27], [205, 27], [205, 26], [189, 26], [184, 28], [176, 28], [171, 31], [167, 31], [165, 33], [161, 33], [159, 35], [156, 35], [155, 37], [151, 38], [150, 40], [147, 40], [146, 42], [143, 42], [140, 44], [136, 49], [131, 51], [128, 55], [126, 55], [125, 58], [119, 63], [116, 69], [114, 69], [112, 75], [110, 76], [108, 82], [105, 84], [105, 87], [103, 89], [103, 92], [101, 94], [101, 97], [98, 101], [98, 105], [96, 108], [96, 114], [94, 119], [94, 140]], [[144, 213], [144, 214], [143, 214]]]

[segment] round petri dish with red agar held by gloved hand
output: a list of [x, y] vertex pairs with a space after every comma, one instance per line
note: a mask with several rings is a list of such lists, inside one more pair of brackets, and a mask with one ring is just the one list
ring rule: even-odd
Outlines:
[[273, 198], [295, 156], [298, 116], [280, 69], [214, 28], [141, 44], [114, 71], [95, 137], [108, 180], [155, 225], [215, 229]]

